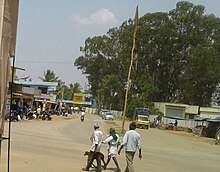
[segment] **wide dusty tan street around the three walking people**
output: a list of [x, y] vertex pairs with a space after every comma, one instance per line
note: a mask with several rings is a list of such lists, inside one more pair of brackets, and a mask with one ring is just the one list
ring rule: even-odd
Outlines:
[[[85, 121], [79, 115], [54, 116], [52, 121], [32, 120], [12, 123], [11, 172], [80, 172], [86, 164], [85, 150], [90, 149], [90, 136], [95, 122], [107, 137], [112, 122], [106, 122], [97, 115], [86, 114]], [[116, 121], [121, 125], [121, 121]], [[126, 123], [126, 129], [127, 129]], [[5, 124], [5, 133], [7, 133]], [[141, 130], [143, 159], [135, 156], [136, 172], [219, 172], [220, 146], [213, 140], [202, 139], [192, 134]], [[6, 134], [5, 134], [6, 135]], [[102, 152], [107, 154], [107, 145]], [[7, 142], [3, 142], [0, 171], [7, 171]], [[105, 156], [107, 158], [107, 156]], [[125, 157], [118, 156], [124, 170]], [[114, 171], [110, 162], [106, 172]], [[94, 169], [91, 169], [91, 171]]]

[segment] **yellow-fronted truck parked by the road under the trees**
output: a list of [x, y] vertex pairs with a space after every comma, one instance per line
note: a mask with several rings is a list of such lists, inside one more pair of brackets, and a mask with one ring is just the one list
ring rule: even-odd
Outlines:
[[150, 111], [148, 108], [135, 109], [133, 121], [135, 121], [137, 128], [148, 129], [150, 127], [149, 115]]

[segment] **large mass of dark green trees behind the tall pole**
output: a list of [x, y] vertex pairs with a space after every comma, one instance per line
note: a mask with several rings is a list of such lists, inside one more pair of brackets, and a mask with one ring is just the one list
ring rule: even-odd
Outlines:
[[[74, 62], [103, 105], [113, 101], [110, 76], [120, 95], [117, 104], [123, 104], [133, 30], [129, 19], [106, 35], [87, 38]], [[204, 6], [182, 1], [169, 12], [139, 19], [128, 107], [155, 101], [208, 106], [219, 80], [220, 19], [205, 14]]]

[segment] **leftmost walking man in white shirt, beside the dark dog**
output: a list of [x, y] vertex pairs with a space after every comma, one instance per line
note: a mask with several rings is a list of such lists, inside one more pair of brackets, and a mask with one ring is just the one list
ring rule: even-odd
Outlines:
[[82, 169], [83, 171], [89, 171], [89, 168], [91, 167], [94, 159], [97, 159], [97, 172], [101, 171], [100, 149], [102, 145], [103, 134], [102, 131], [99, 130], [99, 125], [97, 123], [94, 125], [94, 130], [95, 131], [90, 138], [92, 143], [90, 152], [92, 152], [92, 156], [88, 160], [87, 166]]

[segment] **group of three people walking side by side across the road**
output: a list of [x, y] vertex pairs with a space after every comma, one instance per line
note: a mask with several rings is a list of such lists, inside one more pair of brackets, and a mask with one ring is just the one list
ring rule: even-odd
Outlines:
[[140, 135], [135, 131], [136, 124], [135, 122], [131, 122], [129, 124], [129, 130], [126, 131], [122, 142], [120, 143], [119, 135], [116, 133], [114, 128], [109, 129], [109, 137], [103, 140], [103, 133], [99, 129], [99, 125], [96, 123], [94, 125], [94, 132], [90, 138], [92, 146], [90, 152], [92, 152], [92, 157], [87, 161], [87, 165], [85, 168], [82, 168], [83, 171], [89, 171], [90, 167], [93, 164], [93, 161], [96, 157], [97, 160], [97, 172], [102, 171], [101, 159], [97, 158], [100, 155], [100, 149], [102, 144], [108, 144], [108, 159], [104, 164], [103, 169], [105, 170], [110, 162], [113, 159], [116, 165], [116, 171], [121, 171], [119, 167], [119, 163], [117, 161], [117, 155], [120, 155], [121, 150], [125, 149], [125, 157], [126, 157], [126, 168], [125, 172], [134, 172], [133, 159], [135, 153], [139, 152], [139, 158], [142, 158], [141, 154], [141, 142]]

